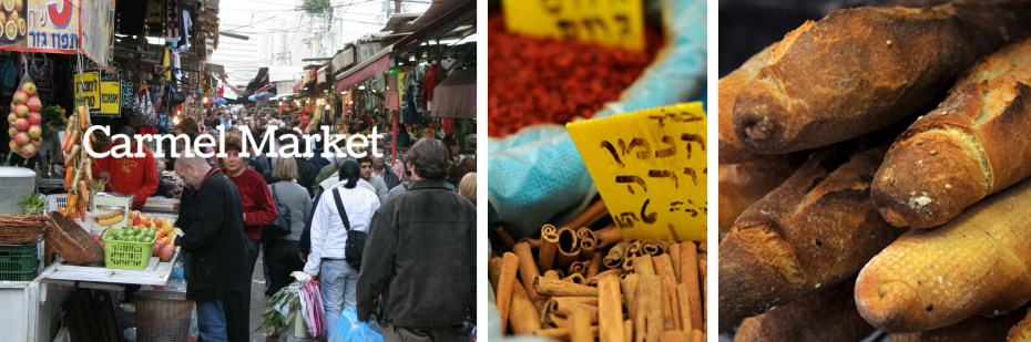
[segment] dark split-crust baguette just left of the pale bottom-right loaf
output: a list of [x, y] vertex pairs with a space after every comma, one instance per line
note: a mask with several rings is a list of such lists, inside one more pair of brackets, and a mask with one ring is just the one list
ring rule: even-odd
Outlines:
[[820, 151], [741, 215], [719, 242], [721, 324], [845, 280], [897, 237], [869, 199], [887, 148]]

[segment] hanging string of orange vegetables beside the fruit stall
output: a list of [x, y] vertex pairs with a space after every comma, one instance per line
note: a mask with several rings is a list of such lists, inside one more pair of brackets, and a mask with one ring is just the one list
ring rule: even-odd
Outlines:
[[82, 133], [90, 125], [90, 113], [85, 105], [75, 106], [75, 113], [71, 115], [64, 128], [64, 143], [61, 144], [61, 152], [64, 153], [64, 189], [68, 191], [68, 203], [58, 208], [58, 211], [64, 217], [79, 217], [83, 221], [86, 205], [90, 204], [94, 191], [90, 188], [93, 184], [93, 157], [86, 154], [82, 146], [83, 142], [90, 143], [89, 138], [82, 138]]

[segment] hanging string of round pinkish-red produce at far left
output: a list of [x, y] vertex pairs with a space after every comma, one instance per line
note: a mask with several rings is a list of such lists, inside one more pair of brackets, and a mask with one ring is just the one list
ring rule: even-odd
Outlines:
[[11, 113], [7, 121], [11, 124], [8, 134], [11, 136], [11, 152], [28, 159], [35, 156], [40, 145], [43, 144], [43, 129], [40, 127], [43, 117], [39, 111], [42, 108], [40, 97], [35, 94], [35, 84], [25, 82], [14, 92], [11, 101]]

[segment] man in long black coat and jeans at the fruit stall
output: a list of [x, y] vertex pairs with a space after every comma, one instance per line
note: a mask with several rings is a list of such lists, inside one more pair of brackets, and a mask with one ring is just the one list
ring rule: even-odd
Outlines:
[[[251, 270], [244, 241], [239, 191], [201, 157], [175, 160], [175, 173], [196, 190], [184, 196], [187, 219], [175, 245], [190, 255], [186, 299], [197, 303], [201, 341], [247, 341]], [[194, 208], [194, 209], [190, 209]]]

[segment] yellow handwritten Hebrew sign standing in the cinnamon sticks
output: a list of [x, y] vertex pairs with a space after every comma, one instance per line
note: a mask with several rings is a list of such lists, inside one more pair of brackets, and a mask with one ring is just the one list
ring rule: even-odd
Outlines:
[[566, 125], [624, 239], [705, 241], [705, 120], [693, 102]]

